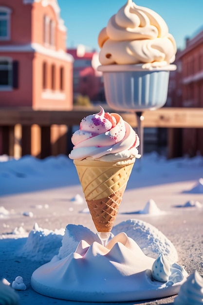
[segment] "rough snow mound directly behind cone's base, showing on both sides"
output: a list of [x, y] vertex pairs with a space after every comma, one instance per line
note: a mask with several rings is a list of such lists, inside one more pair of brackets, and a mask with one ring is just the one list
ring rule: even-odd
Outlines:
[[[141, 220], [130, 219], [121, 222], [112, 229], [114, 235], [121, 232], [125, 232], [131, 237], [146, 255], [157, 258], [163, 253], [171, 264], [177, 262], [178, 254], [173, 244], [152, 225]], [[62, 240], [62, 247], [58, 252], [58, 259], [63, 259], [73, 253], [82, 239], [88, 244], [99, 241], [97, 234], [94, 234], [90, 229], [81, 225], [68, 225]]]

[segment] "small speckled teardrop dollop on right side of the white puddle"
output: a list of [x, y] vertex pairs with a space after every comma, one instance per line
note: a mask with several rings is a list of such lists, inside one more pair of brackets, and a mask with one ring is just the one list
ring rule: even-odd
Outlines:
[[167, 258], [160, 254], [152, 265], [152, 277], [159, 282], [167, 282], [171, 274], [170, 263]]

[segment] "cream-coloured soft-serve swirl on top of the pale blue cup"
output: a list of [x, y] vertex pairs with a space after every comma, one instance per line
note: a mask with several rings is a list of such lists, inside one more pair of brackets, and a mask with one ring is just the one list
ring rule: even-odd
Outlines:
[[113, 15], [98, 36], [102, 65], [139, 64], [143, 68], [172, 63], [176, 43], [160, 15], [132, 0]]

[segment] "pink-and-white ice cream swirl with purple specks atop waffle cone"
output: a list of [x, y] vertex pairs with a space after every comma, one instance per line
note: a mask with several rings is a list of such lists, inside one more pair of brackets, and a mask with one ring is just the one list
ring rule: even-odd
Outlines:
[[82, 119], [79, 130], [72, 136], [72, 142], [71, 159], [114, 161], [140, 157], [137, 150], [139, 137], [135, 131], [119, 114], [105, 113], [102, 107], [98, 114]]

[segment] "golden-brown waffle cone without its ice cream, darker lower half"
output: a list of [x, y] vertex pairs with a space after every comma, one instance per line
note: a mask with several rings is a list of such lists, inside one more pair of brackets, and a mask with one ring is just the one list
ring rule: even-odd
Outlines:
[[74, 160], [93, 223], [98, 232], [110, 232], [135, 158], [121, 162]]

